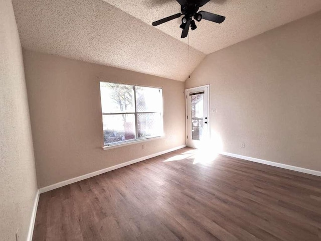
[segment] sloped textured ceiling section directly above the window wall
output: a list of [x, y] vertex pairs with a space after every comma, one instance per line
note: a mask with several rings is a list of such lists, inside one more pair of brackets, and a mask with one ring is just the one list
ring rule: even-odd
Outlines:
[[[102, 0], [13, 0], [29, 50], [185, 81], [188, 45]], [[190, 48], [190, 72], [205, 54]]]

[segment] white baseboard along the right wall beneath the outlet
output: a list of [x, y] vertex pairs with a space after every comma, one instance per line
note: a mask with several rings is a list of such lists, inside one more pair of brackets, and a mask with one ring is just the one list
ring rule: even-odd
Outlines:
[[280, 167], [280, 168], [284, 168], [284, 169], [288, 169], [288, 170], [292, 170], [292, 171], [296, 171], [296, 172], [303, 172], [303, 173], [307, 173], [307, 174], [321, 177], [321, 171], [315, 171], [315, 170], [306, 169], [306, 168], [302, 168], [302, 167], [296, 167], [296, 166], [291, 166], [291, 165], [287, 165], [287, 164], [266, 161], [266, 160], [262, 160], [262, 159], [258, 159], [258, 158], [247, 157], [247, 156], [242, 156], [242, 155], [228, 153], [228, 152], [221, 152], [220, 154], [222, 154], [224, 156], [235, 157], [235, 158], [239, 158], [239, 159], [243, 159], [243, 160], [247, 160], [247, 161], [251, 161], [251, 162], [258, 162], [258, 163], [266, 164], [269, 166]]

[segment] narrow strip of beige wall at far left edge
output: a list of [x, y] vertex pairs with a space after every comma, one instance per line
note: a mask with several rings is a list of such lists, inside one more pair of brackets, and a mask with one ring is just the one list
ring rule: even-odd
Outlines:
[[10, 0], [0, 1], [0, 240], [26, 240], [37, 192], [22, 51]]

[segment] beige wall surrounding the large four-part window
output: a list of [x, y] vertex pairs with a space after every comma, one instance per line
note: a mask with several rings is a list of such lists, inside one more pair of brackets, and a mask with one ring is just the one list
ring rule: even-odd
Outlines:
[[[24, 51], [39, 187], [185, 145], [184, 82]], [[99, 81], [163, 88], [165, 138], [103, 151]]]

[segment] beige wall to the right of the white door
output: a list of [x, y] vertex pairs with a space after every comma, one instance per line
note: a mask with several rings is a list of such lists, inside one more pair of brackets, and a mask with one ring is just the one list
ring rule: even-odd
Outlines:
[[321, 12], [212, 53], [186, 81], [211, 85], [223, 151], [321, 171], [320, 23]]

